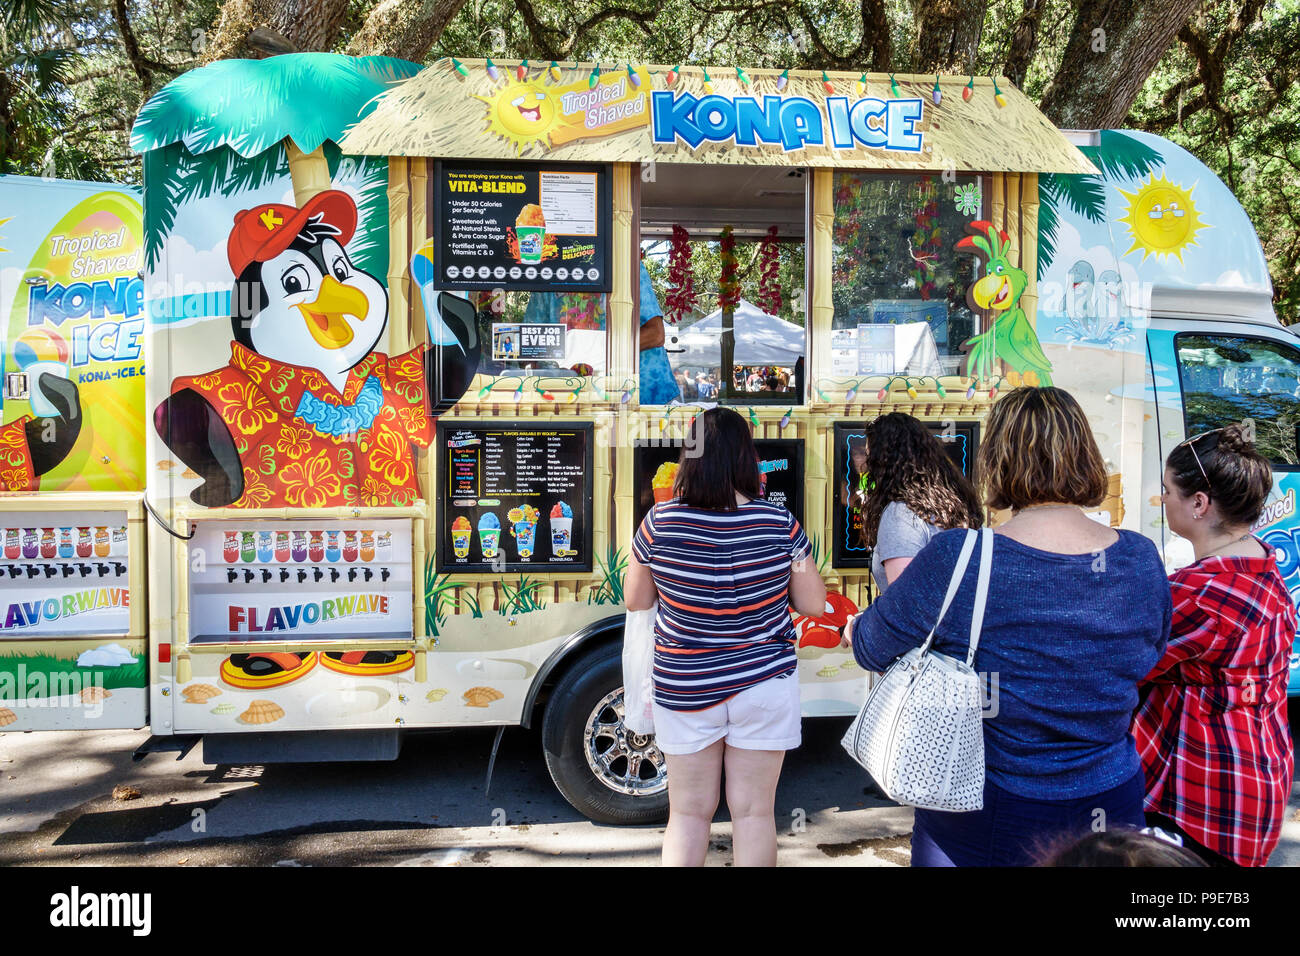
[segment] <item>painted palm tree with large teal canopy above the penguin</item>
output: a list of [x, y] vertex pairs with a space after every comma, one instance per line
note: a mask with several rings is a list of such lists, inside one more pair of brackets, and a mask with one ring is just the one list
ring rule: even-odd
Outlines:
[[[148, 265], [157, 261], [181, 206], [257, 189], [286, 165], [299, 206], [329, 189], [341, 169], [386, 181], [382, 161], [350, 161], [334, 140], [373, 109], [380, 94], [419, 72], [417, 64], [391, 57], [292, 53], [221, 60], [173, 79], [144, 104], [131, 130], [131, 147], [146, 153], [146, 178], [177, 183], [156, 190], [144, 211]], [[376, 193], [372, 202], [382, 204], [382, 190], [361, 195]], [[363, 217], [369, 212], [360, 209]]]

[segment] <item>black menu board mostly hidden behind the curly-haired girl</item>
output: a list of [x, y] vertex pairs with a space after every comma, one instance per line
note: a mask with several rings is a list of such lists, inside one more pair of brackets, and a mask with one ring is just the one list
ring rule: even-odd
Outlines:
[[[835, 480], [831, 483], [832, 567], [871, 567], [871, 551], [862, 544], [862, 503], [867, 489], [867, 425], [870, 421], [835, 423]], [[962, 475], [975, 473], [979, 425], [974, 421], [927, 421]]]

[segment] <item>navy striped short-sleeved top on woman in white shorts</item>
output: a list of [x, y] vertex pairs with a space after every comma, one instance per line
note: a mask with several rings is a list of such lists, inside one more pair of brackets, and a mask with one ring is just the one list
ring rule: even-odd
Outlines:
[[794, 515], [757, 499], [736, 511], [655, 505], [632, 541], [659, 592], [655, 702], [705, 710], [793, 674], [790, 561], [806, 558]]

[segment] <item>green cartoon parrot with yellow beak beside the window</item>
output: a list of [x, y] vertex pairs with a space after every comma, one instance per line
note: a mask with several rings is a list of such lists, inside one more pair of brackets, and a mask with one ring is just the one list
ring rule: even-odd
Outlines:
[[957, 248], [974, 248], [987, 258], [984, 277], [971, 284], [966, 302], [972, 311], [992, 310], [997, 316], [993, 328], [966, 342], [970, 346], [967, 375], [988, 378], [993, 363], [1002, 359], [1011, 368], [1008, 380], [1013, 385], [1050, 385], [1052, 363], [1043, 354], [1037, 333], [1019, 304], [1030, 277], [1011, 265], [1010, 237], [983, 220], [968, 222], [966, 228], [974, 234], [959, 239]]

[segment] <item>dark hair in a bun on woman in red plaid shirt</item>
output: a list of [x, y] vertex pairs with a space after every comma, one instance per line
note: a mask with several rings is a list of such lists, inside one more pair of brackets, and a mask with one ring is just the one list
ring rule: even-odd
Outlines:
[[1204, 492], [1228, 527], [1254, 524], [1273, 490], [1269, 459], [1254, 450], [1242, 425], [1188, 438], [1169, 453], [1165, 464], [1182, 497]]

